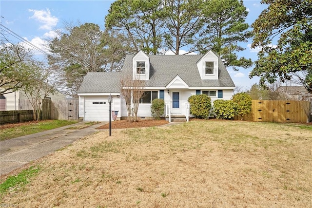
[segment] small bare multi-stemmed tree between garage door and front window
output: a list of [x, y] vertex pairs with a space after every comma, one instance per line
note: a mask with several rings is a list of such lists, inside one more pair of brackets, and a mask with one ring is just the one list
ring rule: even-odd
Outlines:
[[145, 81], [139, 77], [124, 74], [120, 78], [120, 92], [126, 101], [128, 120], [131, 122], [137, 121], [137, 110], [140, 103], [140, 98], [144, 95]]

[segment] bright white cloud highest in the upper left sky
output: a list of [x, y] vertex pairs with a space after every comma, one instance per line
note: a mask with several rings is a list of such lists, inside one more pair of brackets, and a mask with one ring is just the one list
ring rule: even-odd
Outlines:
[[35, 19], [43, 24], [39, 27], [39, 29], [51, 30], [53, 27], [57, 25], [59, 21], [57, 17], [51, 15], [49, 9], [46, 10], [28, 9], [28, 11], [34, 13], [34, 15], [30, 17], [30, 19]]

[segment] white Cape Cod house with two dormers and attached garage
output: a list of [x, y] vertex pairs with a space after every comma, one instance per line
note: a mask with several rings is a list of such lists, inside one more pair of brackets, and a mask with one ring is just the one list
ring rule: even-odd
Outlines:
[[152, 117], [151, 102], [164, 99], [166, 115], [189, 113], [188, 98], [206, 94], [212, 99], [232, 98], [234, 82], [221, 59], [212, 51], [205, 55], [146, 55], [142, 51], [127, 55], [120, 73], [89, 72], [78, 90], [79, 117], [85, 121], [108, 121], [108, 95], [113, 96], [112, 111], [128, 116], [120, 95], [120, 77], [146, 80], [145, 96], [140, 99], [137, 116]]

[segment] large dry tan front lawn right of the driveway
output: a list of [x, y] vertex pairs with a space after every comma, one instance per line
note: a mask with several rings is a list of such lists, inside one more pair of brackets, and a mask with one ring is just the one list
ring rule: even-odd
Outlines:
[[312, 131], [192, 121], [85, 137], [39, 161], [18, 207], [312, 207]]

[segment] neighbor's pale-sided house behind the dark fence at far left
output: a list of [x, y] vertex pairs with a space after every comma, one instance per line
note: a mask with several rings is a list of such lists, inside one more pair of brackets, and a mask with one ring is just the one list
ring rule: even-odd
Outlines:
[[[4, 96], [4, 98], [2, 96]], [[60, 100], [65, 99], [66, 95], [57, 91], [54, 95], [49, 95], [48, 97]], [[25, 92], [22, 90], [1, 95], [1, 106], [2, 105], [5, 106], [5, 108], [2, 107], [1, 111], [32, 110], [32, 106], [29, 103]]]

